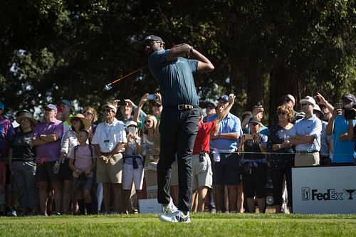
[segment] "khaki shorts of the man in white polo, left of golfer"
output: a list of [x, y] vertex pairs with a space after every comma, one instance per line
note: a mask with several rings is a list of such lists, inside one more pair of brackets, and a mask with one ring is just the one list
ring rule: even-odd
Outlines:
[[108, 164], [103, 159], [98, 158], [96, 162], [96, 183], [122, 184], [122, 154], [117, 153], [111, 157]]

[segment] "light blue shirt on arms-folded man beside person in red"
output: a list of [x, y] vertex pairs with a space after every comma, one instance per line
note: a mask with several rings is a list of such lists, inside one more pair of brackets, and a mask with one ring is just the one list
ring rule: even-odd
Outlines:
[[[216, 120], [216, 117], [217, 117], [216, 114], [211, 115], [208, 118], [207, 122]], [[239, 133], [240, 137], [242, 135], [241, 121], [240, 121], [239, 117], [232, 115], [230, 112], [228, 115], [226, 115], [226, 117], [224, 117], [224, 120], [221, 120], [220, 129], [219, 129], [219, 134], [228, 133], [228, 132], [237, 132], [237, 133]], [[236, 151], [239, 148], [239, 139], [236, 139], [236, 140], [224, 139], [224, 138], [211, 139], [210, 147], [213, 149], [218, 149], [221, 152]]]

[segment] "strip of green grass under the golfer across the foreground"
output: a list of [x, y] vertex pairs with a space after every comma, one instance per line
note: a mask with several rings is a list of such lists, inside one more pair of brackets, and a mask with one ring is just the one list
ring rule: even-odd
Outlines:
[[192, 214], [162, 223], [156, 214], [1, 217], [0, 236], [356, 236], [356, 215]]

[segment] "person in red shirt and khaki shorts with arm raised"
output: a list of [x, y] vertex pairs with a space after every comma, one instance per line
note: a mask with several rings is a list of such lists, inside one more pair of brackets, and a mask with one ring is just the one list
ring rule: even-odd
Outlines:
[[192, 211], [204, 211], [204, 200], [208, 189], [213, 182], [213, 172], [211, 171], [210, 135], [218, 136], [221, 120], [229, 113], [234, 105], [235, 95], [229, 95], [229, 105], [223, 112], [219, 113], [216, 120], [203, 123], [204, 116], [200, 115], [197, 137], [194, 142], [192, 156]]

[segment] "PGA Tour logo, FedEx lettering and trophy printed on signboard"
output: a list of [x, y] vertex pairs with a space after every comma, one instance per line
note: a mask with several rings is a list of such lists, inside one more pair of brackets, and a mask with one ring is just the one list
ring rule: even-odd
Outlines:
[[[356, 193], [356, 189], [343, 189], [343, 192], [335, 191], [335, 189], [327, 189], [325, 191], [318, 191], [318, 189], [310, 189], [303, 187], [301, 190], [301, 197], [303, 201], [329, 201], [329, 200], [353, 200], [352, 195]], [[342, 197], [346, 194], [346, 197]]]

